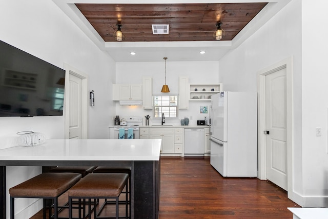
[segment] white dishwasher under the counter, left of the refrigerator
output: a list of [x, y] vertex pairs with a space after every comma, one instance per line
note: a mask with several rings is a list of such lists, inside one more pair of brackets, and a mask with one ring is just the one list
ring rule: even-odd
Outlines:
[[185, 156], [204, 155], [204, 129], [185, 128]]

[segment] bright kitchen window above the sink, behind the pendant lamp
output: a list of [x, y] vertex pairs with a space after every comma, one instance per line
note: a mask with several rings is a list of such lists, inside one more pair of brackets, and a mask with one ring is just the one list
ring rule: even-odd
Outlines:
[[161, 118], [178, 118], [178, 95], [153, 96], [153, 116]]

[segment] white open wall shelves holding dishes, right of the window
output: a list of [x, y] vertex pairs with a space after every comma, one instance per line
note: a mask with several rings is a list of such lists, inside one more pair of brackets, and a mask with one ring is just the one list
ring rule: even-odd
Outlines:
[[222, 84], [190, 84], [190, 101], [210, 101], [211, 95], [221, 92]]

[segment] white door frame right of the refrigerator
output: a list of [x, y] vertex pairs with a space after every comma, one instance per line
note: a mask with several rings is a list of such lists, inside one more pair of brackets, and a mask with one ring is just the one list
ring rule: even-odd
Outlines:
[[293, 194], [293, 57], [283, 59], [257, 74], [258, 91], [258, 174], [260, 180], [267, 180], [267, 144], [265, 134], [265, 76], [286, 68], [286, 132], [287, 132], [287, 186], [288, 197]]

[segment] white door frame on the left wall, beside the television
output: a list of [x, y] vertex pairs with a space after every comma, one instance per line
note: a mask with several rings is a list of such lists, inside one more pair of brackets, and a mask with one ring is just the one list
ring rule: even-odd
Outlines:
[[64, 94], [64, 135], [66, 139], [69, 139], [69, 80], [70, 75], [74, 75], [82, 80], [82, 99], [81, 99], [81, 128], [82, 128], [82, 139], [89, 138], [89, 76], [84, 72], [64, 63], [65, 73], [65, 94]]

